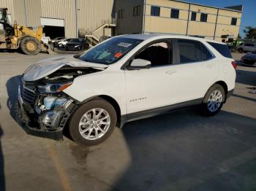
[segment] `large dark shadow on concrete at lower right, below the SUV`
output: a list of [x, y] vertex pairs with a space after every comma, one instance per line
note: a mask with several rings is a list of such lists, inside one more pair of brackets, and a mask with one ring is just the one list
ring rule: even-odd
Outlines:
[[256, 120], [195, 110], [128, 123], [120, 190], [256, 190]]

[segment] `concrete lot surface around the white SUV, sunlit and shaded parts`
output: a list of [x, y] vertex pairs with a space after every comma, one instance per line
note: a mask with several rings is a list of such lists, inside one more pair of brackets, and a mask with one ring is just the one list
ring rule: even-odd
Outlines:
[[215, 117], [165, 114], [80, 147], [29, 136], [14, 120], [19, 75], [48, 57], [0, 52], [0, 190], [256, 190], [256, 68], [238, 66]]

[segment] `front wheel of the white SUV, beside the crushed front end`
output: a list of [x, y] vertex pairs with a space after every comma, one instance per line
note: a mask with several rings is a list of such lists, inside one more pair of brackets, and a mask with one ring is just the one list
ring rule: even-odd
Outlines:
[[80, 106], [72, 115], [69, 133], [78, 144], [100, 144], [113, 133], [116, 120], [116, 111], [108, 101], [94, 99]]

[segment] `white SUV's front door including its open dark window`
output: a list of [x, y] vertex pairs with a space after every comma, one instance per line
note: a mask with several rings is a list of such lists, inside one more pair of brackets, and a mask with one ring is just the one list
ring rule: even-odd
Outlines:
[[135, 59], [151, 61], [151, 68], [125, 71], [128, 114], [170, 104], [171, 87], [176, 85], [171, 74], [172, 52], [170, 40], [165, 39], [149, 44], [135, 56]]

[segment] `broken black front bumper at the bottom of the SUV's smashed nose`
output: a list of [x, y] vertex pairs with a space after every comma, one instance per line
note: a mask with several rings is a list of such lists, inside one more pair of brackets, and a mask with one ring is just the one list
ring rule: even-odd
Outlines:
[[42, 138], [53, 139], [56, 141], [63, 140], [63, 133], [62, 128], [57, 128], [55, 130], [48, 130], [47, 128], [38, 128], [38, 127], [31, 127], [29, 125], [28, 120], [29, 116], [26, 114], [25, 110], [23, 109], [23, 98], [21, 97], [20, 87], [18, 88], [18, 120], [20, 125], [22, 125], [23, 130], [26, 133], [32, 136], [39, 136]]

